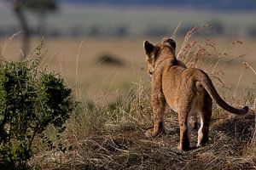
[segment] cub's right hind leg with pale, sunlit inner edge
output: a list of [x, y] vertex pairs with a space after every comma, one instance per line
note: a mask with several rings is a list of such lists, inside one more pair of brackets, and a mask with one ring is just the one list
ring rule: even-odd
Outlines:
[[201, 111], [199, 111], [201, 127], [198, 130], [198, 141], [196, 146], [206, 145], [209, 139], [209, 126], [212, 117], [212, 98], [205, 94], [205, 99]]

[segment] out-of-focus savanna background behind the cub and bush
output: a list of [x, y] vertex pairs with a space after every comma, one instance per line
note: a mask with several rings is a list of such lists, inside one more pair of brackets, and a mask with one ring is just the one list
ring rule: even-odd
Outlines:
[[44, 37], [49, 70], [60, 72], [81, 99], [112, 100], [132, 83], [150, 80], [144, 40], [172, 36], [178, 51], [198, 26], [195, 39], [210, 39], [218, 53], [228, 54], [217, 68], [200, 67], [214, 67], [222, 90], [242, 98], [244, 89], [255, 87], [255, 74], [242, 65], [256, 68], [255, 16], [255, 0], [0, 0], [0, 52], [22, 59]]

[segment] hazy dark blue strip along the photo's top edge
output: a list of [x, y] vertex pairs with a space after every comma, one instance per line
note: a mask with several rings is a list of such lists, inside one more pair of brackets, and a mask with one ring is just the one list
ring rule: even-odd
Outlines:
[[162, 5], [169, 7], [194, 7], [207, 9], [253, 10], [256, 9], [255, 0], [60, 0], [67, 3], [90, 3], [112, 5]]

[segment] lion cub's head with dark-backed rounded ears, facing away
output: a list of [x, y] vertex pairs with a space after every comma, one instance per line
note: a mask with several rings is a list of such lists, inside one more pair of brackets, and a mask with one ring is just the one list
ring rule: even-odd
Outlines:
[[143, 45], [146, 53], [148, 74], [150, 76], [153, 75], [155, 63], [157, 59], [160, 59], [160, 56], [168, 57], [170, 55], [175, 57], [176, 42], [172, 38], [164, 37], [158, 45], [153, 45], [148, 41], [144, 41]]

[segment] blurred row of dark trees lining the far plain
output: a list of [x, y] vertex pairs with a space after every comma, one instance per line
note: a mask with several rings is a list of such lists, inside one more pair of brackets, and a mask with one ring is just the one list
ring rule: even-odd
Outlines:
[[[180, 26], [176, 32], [177, 36], [184, 36], [195, 27], [195, 25]], [[127, 25], [115, 26], [107, 29], [102, 26], [70, 26], [67, 30], [50, 28], [47, 31], [38, 32], [36, 28], [32, 28], [32, 36], [47, 37], [163, 37], [172, 34], [175, 27], [171, 26], [148, 26], [145, 30], [133, 33], [131, 27]], [[0, 26], [0, 37], [6, 37], [20, 31], [17, 26]], [[247, 26], [241, 34], [239, 29], [230, 29], [224, 26], [223, 22], [218, 20], [210, 20], [205, 26], [201, 26], [197, 36], [247, 36], [256, 37], [256, 25]]]

